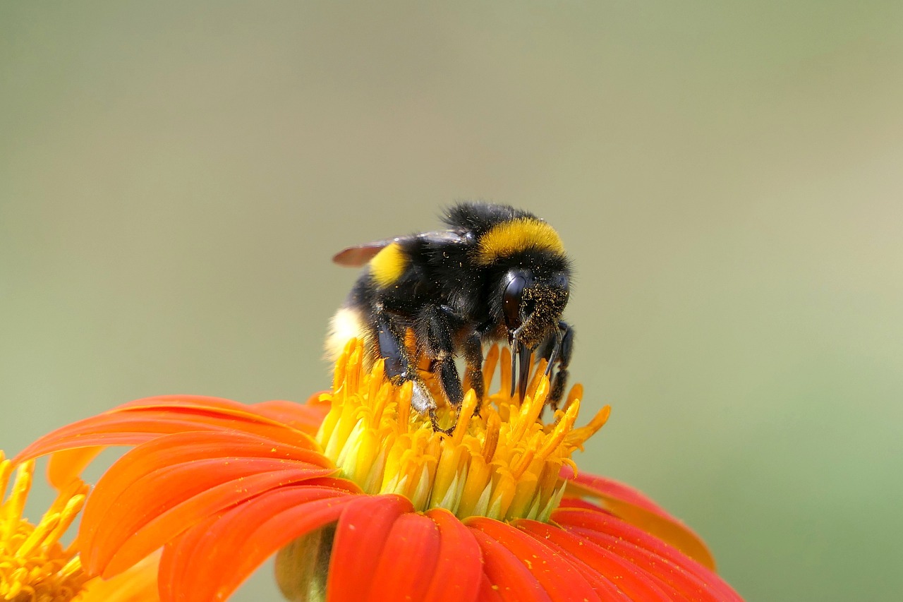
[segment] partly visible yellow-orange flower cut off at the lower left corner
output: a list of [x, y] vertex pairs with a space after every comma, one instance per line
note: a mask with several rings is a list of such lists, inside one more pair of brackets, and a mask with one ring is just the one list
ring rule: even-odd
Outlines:
[[88, 485], [76, 479], [61, 489], [50, 509], [34, 525], [23, 518], [32, 487], [34, 462], [18, 466], [11, 493], [3, 494], [13, 475], [13, 463], [0, 451], [0, 600], [11, 602], [153, 602], [156, 594], [155, 556], [126, 571], [115, 581], [91, 579], [81, 566], [76, 546], [61, 537], [85, 503]]

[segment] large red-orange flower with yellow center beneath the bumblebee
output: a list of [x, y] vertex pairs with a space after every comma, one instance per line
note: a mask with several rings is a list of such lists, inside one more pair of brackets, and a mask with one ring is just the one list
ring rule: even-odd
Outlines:
[[576, 470], [608, 408], [575, 428], [578, 385], [545, 423], [542, 366], [512, 399], [506, 353], [501, 392], [478, 415], [471, 391], [448, 437], [352, 342], [305, 405], [138, 400], [18, 459], [54, 453], [64, 482], [98, 447], [135, 446], [88, 499], [79, 549], [88, 575], [111, 578], [163, 547], [164, 601], [224, 599], [277, 550], [290, 599], [740, 600], [682, 523]]

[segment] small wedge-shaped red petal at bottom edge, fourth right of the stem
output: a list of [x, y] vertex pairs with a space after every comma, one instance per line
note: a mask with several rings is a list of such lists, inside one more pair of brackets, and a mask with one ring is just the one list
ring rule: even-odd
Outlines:
[[[551, 602], [552, 598], [514, 552], [479, 529], [471, 532], [483, 554], [486, 582], [489, 589], [498, 593], [499, 599], [505, 602]], [[480, 592], [488, 593], [486, 582], [481, 584]], [[479, 599], [482, 600], [482, 596]]]

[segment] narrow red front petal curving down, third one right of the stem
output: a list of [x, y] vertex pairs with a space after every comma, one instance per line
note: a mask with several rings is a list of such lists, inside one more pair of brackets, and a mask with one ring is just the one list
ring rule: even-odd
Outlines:
[[[443, 508], [426, 513], [439, 527], [439, 553], [424, 602], [475, 600], [483, 575], [483, 555], [470, 530]], [[480, 598], [481, 599], [481, 598]]]

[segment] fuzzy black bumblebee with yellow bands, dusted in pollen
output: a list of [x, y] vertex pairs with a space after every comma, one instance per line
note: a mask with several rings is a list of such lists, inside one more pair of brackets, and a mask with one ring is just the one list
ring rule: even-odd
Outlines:
[[366, 362], [385, 358], [391, 381], [414, 381], [414, 409], [429, 412], [433, 428], [442, 430], [417, 362], [428, 360], [457, 408], [464, 394], [455, 357], [463, 357], [482, 400], [482, 345], [507, 341], [511, 394], [517, 390], [523, 399], [531, 363], [545, 358], [549, 400], [557, 407], [573, 348], [573, 328], [561, 319], [571, 262], [558, 233], [532, 213], [485, 202], [454, 205], [442, 221], [447, 230], [377, 240], [332, 258], [366, 268], [332, 319], [327, 354], [335, 359], [350, 337], [362, 339]]

